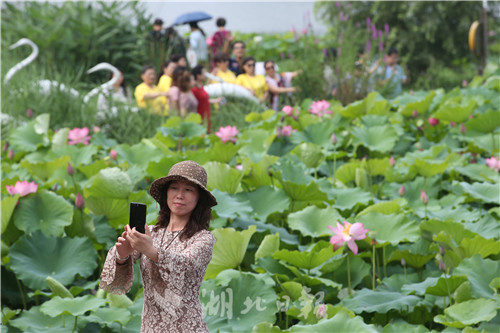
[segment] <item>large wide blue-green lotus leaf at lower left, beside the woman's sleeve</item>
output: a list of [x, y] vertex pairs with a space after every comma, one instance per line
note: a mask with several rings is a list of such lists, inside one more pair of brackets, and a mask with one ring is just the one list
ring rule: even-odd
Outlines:
[[47, 276], [68, 285], [77, 274], [88, 277], [97, 267], [97, 253], [89, 239], [48, 237], [41, 232], [22, 236], [9, 256], [12, 271], [32, 289], [47, 289]]

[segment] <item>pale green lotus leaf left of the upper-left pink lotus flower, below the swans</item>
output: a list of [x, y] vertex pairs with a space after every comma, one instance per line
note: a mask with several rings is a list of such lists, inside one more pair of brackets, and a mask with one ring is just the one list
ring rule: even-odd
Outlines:
[[49, 115], [43, 114], [11, 132], [9, 142], [16, 151], [35, 151], [39, 146], [47, 146], [50, 143], [47, 131], [43, 126], [37, 125], [38, 119], [40, 125], [47, 123], [48, 126]]

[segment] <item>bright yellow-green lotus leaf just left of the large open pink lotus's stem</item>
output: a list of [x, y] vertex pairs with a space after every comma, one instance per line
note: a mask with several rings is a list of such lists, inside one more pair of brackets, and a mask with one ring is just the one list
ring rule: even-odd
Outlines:
[[317, 243], [311, 251], [280, 250], [273, 254], [273, 258], [283, 260], [296, 267], [312, 269], [335, 255], [332, 246], [322, 241]]

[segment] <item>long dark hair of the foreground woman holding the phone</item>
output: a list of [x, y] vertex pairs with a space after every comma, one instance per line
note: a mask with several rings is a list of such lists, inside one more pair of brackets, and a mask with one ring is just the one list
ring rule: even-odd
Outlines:
[[[167, 190], [168, 187], [172, 184], [172, 182], [167, 183], [163, 186], [163, 190], [161, 191], [161, 202], [160, 202], [160, 213], [158, 216], [158, 222], [156, 223], [155, 229], [156, 231], [159, 228], [166, 228], [170, 223], [170, 208], [167, 205]], [[209, 205], [207, 194], [202, 190], [198, 185], [198, 203], [196, 207], [191, 212], [191, 216], [189, 217], [189, 222], [187, 223], [184, 231], [182, 232], [180, 239], [182, 241], [187, 240], [193, 237], [198, 231], [208, 230], [210, 226], [210, 220], [212, 219], [212, 208]]]

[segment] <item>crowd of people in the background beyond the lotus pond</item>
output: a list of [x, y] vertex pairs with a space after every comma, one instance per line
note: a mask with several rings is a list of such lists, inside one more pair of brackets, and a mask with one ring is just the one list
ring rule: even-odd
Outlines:
[[[197, 112], [210, 131], [211, 105], [220, 105], [225, 99], [210, 98], [203, 88], [206, 84], [224, 82], [239, 85], [247, 89], [260, 103], [274, 110], [280, 107], [280, 94], [291, 95], [297, 91], [297, 88], [292, 86], [292, 79], [302, 71], [280, 73], [275, 62], [271, 60], [257, 62], [254, 57], [246, 54], [243, 41], [234, 40], [231, 31], [225, 27], [224, 18], [216, 20], [217, 30], [208, 38], [196, 22], [189, 25], [191, 33], [186, 47], [183, 38], [173, 27], [164, 31], [163, 21], [154, 21], [153, 30], [148, 36], [151, 49], [155, 49], [158, 42], [164, 41], [165, 43], [160, 45], [166, 47], [168, 52], [160, 53], [166, 58], [162, 61], [160, 75], [157, 76], [153, 65], [146, 65], [142, 69], [142, 83], [135, 88], [133, 94], [138, 107], [147, 108], [150, 112], [160, 115], [181, 117]], [[329, 49], [325, 54], [325, 60], [334, 60], [335, 57], [335, 49]], [[389, 50], [383, 65], [381, 60], [368, 64], [364, 51], [360, 50], [354, 75], [364, 78], [377, 76], [375, 83], [373, 80], [366, 82], [372, 86], [393, 84], [391, 96], [400, 94], [401, 84], [406, 81], [407, 76], [397, 65], [397, 50]], [[208, 82], [207, 72], [217, 77], [218, 81]], [[341, 80], [335, 77], [335, 70], [329, 67], [328, 61], [324, 76], [330, 96], [333, 97]], [[120, 86], [122, 82], [123, 80], [119, 80], [119, 83], [115, 84], [113, 98], [115, 95], [121, 100], [129, 98], [130, 93], [127, 96], [124, 87]], [[360, 85], [361, 83], [355, 85], [355, 89], [361, 90]], [[368, 87], [368, 90], [373, 88]], [[363, 89], [366, 90], [366, 87]]]

